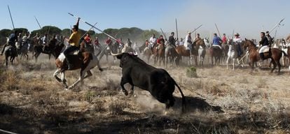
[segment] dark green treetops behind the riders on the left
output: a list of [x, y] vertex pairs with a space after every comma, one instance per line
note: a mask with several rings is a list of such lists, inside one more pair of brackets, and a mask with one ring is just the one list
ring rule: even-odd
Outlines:
[[[15, 29], [1, 29], [0, 30], [0, 45], [3, 45], [6, 43], [6, 37], [8, 37], [13, 31], [19, 31], [19, 33], [22, 33], [22, 35], [27, 34], [29, 31], [25, 28], [15, 28]], [[81, 32], [81, 35], [85, 34], [85, 30], [78, 29]], [[123, 41], [127, 40], [127, 38], [130, 38], [131, 40], [141, 40], [145, 41], [146, 39], [149, 39], [152, 34], [156, 34], [156, 36], [159, 36], [160, 33], [154, 29], [150, 30], [143, 30], [139, 29], [137, 27], [131, 27], [131, 28], [121, 28], [121, 29], [105, 29], [104, 32], [106, 34], [109, 34], [115, 38], [122, 38]], [[54, 35], [60, 35], [60, 36], [66, 36], [69, 38], [71, 34], [71, 29], [60, 29], [58, 27], [53, 26], [45, 26], [42, 27], [42, 29], [37, 29], [34, 31], [29, 32], [31, 34], [31, 37], [34, 37], [36, 33], [39, 33], [40, 36], [43, 36], [44, 34], [48, 34], [48, 37], [53, 37]], [[108, 36], [102, 33], [96, 33], [93, 30], [88, 31], [88, 34], [90, 34], [91, 38], [94, 39], [95, 37], [98, 37], [99, 40], [106, 40]]]

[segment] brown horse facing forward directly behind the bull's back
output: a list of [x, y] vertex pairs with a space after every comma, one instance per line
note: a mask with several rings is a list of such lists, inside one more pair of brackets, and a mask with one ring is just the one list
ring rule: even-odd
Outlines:
[[163, 61], [163, 66], [165, 66], [165, 46], [164, 43], [156, 45], [153, 47], [154, 64], [159, 60], [159, 66], [161, 66], [161, 61]]

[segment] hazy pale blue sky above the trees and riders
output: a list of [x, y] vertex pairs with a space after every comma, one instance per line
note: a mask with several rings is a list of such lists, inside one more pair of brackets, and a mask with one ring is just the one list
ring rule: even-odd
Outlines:
[[[69, 29], [76, 23], [72, 13], [82, 20], [95, 24], [99, 29], [120, 29], [138, 27], [140, 29], [160, 28], [169, 33], [176, 31], [179, 37], [187, 31], [196, 32], [201, 37], [211, 37], [213, 33], [232, 36], [233, 31], [241, 38], [259, 38], [261, 31], [270, 31], [285, 18], [281, 25], [271, 32], [272, 36], [284, 38], [290, 34], [290, 1], [288, 0], [1, 0], [0, 29], [13, 29], [8, 12], [10, 7], [15, 28], [29, 31], [39, 29], [34, 16], [41, 26], [55, 26]], [[81, 29], [90, 29], [88, 24], [80, 23]]]

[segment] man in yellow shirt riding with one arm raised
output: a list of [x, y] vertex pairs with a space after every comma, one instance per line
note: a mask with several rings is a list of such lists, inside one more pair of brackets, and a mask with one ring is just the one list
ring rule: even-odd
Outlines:
[[64, 56], [67, 59], [67, 65], [69, 67], [68, 70], [71, 70], [72, 68], [74, 68], [74, 65], [71, 63], [71, 59], [69, 59], [68, 55], [70, 52], [73, 52], [74, 50], [78, 50], [78, 45], [79, 45], [79, 42], [81, 40], [81, 33], [78, 32], [78, 22], [79, 21], [80, 21], [80, 18], [78, 17], [78, 21], [76, 22], [76, 25], [74, 25], [74, 27], [72, 28], [73, 33], [69, 37], [69, 40], [67, 40], [69, 42], [69, 46], [63, 52]]

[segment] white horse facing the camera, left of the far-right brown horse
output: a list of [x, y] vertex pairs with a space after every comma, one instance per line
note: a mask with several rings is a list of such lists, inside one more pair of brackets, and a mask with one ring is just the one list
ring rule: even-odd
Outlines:
[[[228, 62], [230, 59], [233, 59], [233, 70], [235, 70], [235, 59], [237, 59], [237, 45], [233, 43], [233, 40], [230, 40], [228, 43], [228, 59], [226, 59], [226, 68], [228, 69]], [[237, 64], [240, 64], [239, 59], [237, 59]]]

